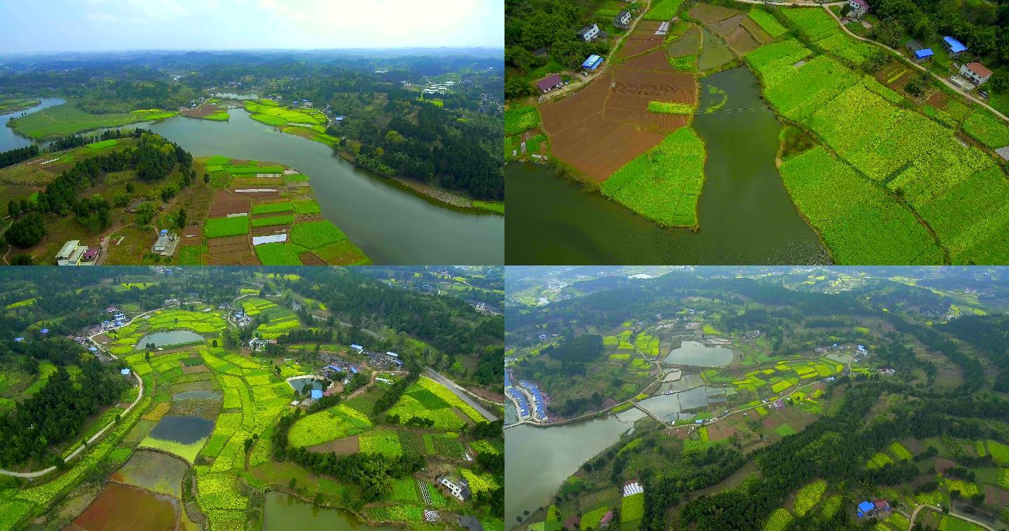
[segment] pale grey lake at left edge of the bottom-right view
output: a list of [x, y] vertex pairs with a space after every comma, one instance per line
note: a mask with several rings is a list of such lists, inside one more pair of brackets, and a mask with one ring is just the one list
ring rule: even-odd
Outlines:
[[504, 484], [519, 485], [504, 497], [504, 527], [516, 518], [550, 503], [561, 485], [582, 463], [620, 440], [645, 413], [632, 409], [574, 424], [534, 428], [523, 424], [504, 430]]

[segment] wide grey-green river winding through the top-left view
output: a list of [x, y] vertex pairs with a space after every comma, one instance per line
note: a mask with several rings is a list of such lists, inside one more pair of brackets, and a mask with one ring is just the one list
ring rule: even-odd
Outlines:
[[[45, 98], [30, 112], [63, 102]], [[311, 178], [323, 216], [340, 227], [374, 263], [504, 261], [503, 216], [460, 211], [435, 203], [388, 179], [355, 168], [328, 145], [259, 123], [244, 109], [229, 109], [228, 114], [226, 122], [179, 116], [124, 127], [150, 129], [179, 143], [194, 156], [221, 154], [278, 163], [298, 170]], [[7, 118], [7, 115], [0, 117], [3, 125]], [[0, 150], [30, 143], [9, 127], [0, 129]]]

